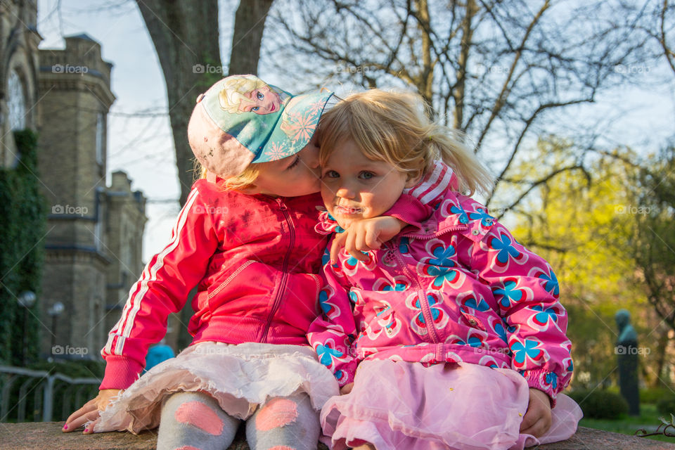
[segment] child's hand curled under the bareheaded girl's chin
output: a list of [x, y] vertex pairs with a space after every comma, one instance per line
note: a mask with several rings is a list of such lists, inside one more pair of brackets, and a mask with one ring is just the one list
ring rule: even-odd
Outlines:
[[368, 255], [364, 255], [362, 251], [379, 250], [383, 243], [396, 236], [407, 225], [391, 216], [352, 221], [344, 233], [335, 235], [330, 247], [330, 261], [338, 261], [338, 253], [342, 247], [359, 261], [368, 261]]

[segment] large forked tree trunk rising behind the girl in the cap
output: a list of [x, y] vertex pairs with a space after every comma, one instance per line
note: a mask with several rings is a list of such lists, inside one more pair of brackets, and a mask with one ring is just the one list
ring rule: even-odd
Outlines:
[[[265, 18], [273, 0], [244, 0], [236, 12], [230, 73], [256, 73]], [[193, 182], [188, 120], [198, 94], [221, 77], [217, 0], [136, 0], [167, 84], [181, 205]], [[245, 37], [245, 40], [244, 40]], [[245, 45], [243, 44], [245, 42]]]

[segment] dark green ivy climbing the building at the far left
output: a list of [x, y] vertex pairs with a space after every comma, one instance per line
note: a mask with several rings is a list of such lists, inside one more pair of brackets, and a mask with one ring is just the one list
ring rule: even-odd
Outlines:
[[[20, 152], [17, 167], [0, 169], [0, 363], [21, 366], [37, 359], [39, 349], [39, 294], [44, 260], [46, 203], [39, 189], [37, 136], [30, 129], [15, 131]], [[18, 305], [20, 293], [30, 290], [38, 301], [26, 311]]]

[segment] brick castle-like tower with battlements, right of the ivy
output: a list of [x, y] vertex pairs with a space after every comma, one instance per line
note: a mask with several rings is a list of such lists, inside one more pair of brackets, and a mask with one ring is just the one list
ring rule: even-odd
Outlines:
[[[98, 358], [140, 276], [146, 199], [124, 172], [106, 186], [112, 64], [86, 34], [39, 50], [39, 167], [49, 204], [42, 354]], [[63, 304], [63, 313], [53, 308]]]

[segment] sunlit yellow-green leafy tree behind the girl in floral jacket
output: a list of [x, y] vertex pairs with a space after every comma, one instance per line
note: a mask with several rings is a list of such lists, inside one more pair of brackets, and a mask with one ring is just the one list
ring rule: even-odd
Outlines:
[[[660, 245], [658, 255], [663, 254], [663, 259], [675, 257], [663, 245], [664, 240], [668, 242], [675, 236], [675, 220], [661, 222], [671, 227], [670, 237], [663, 240], [652, 231], [667, 234], [659, 232], [657, 225], [639, 229], [637, 221], [648, 217], [645, 211], [650, 205], [635, 200], [632, 193], [647, 184], [639, 181], [643, 166], [638, 165], [636, 153], [619, 148], [590, 157], [580, 155], [573, 144], [556, 136], [542, 137], [527, 155], [521, 154], [505, 177], [513, 190], [501, 191], [501, 200], [494, 201], [497, 206], [508, 206], [514, 197], [524, 195], [523, 186], [536, 179], [542, 166], [559, 171], [525, 195], [517, 210], [508, 210], [506, 221], [515, 219], [517, 225], [511, 227], [515, 237], [548, 260], [558, 277], [560, 302], [569, 316], [567, 335], [574, 359], [572, 387], [606, 388], [615, 383], [615, 313], [620, 308], [631, 312], [639, 347], [650, 350], [638, 359], [643, 380], [656, 383], [659, 377], [663, 378], [657, 372], [662, 370], [660, 361], [667, 340], [661, 338], [666, 331], [659, 326], [662, 318], [657, 317], [650, 304], [649, 290], [641, 278], [643, 271], [631, 257], [638, 245], [634, 245], [633, 236], [636, 231], [650, 235], [650, 245], [655, 241]], [[651, 167], [662, 166], [654, 162]], [[674, 174], [673, 168], [675, 165], [659, 173]], [[665, 185], [667, 189], [661, 196], [667, 198], [675, 183], [664, 181], [664, 176], [652, 176], [653, 191], [659, 193], [657, 186]], [[499, 214], [499, 208], [491, 209]], [[669, 245], [675, 248], [675, 241]], [[675, 303], [664, 311], [672, 311], [674, 306]]]

